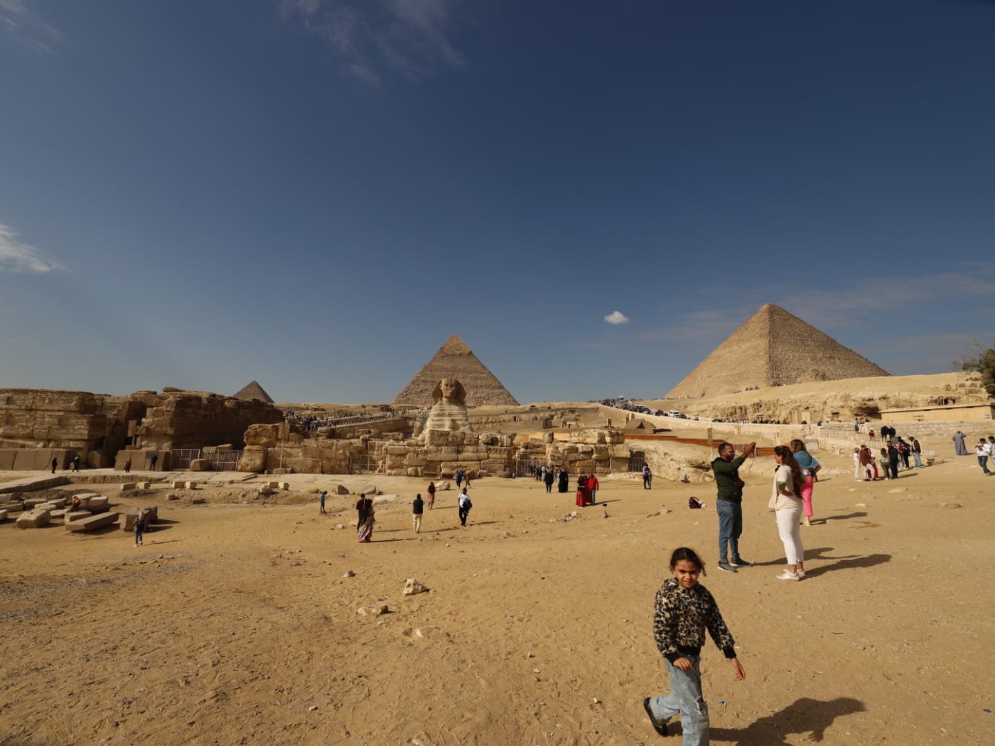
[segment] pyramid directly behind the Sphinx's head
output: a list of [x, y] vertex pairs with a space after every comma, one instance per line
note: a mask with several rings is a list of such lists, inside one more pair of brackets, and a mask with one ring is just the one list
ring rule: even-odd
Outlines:
[[467, 343], [453, 334], [431, 360], [418, 371], [411, 383], [394, 398], [394, 406], [431, 407], [432, 390], [443, 378], [458, 378], [467, 391], [467, 406], [501, 405], [515, 407], [514, 400], [494, 373], [477, 359]]

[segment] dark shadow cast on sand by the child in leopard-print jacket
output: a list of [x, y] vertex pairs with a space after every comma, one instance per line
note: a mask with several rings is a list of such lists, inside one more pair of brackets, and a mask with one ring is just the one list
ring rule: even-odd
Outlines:
[[836, 718], [864, 712], [865, 709], [862, 701], [850, 697], [839, 697], [828, 702], [802, 697], [746, 728], [711, 728], [710, 736], [712, 742], [734, 743], [736, 746], [790, 746], [797, 739], [788, 741], [787, 736], [807, 733], [810, 734], [808, 740], [819, 743]]

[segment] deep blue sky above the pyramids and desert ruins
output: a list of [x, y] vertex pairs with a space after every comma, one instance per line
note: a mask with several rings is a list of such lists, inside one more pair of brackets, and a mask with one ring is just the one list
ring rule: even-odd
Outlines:
[[[995, 337], [995, 3], [0, 0], [0, 387], [658, 397]], [[613, 315], [616, 314], [617, 315]], [[614, 323], [613, 323], [614, 321]]]

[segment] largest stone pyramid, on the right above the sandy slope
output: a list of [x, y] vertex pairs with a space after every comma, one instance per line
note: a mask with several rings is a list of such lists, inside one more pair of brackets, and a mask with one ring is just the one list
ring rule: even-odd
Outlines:
[[667, 395], [697, 399], [747, 388], [891, 375], [784, 308], [767, 303]]

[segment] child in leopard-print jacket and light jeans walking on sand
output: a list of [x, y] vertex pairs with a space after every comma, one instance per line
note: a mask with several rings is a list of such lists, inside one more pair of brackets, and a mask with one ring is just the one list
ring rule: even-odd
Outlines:
[[746, 672], [736, 658], [735, 641], [722, 621], [715, 600], [697, 582], [698, 575], [705, 572], [704, 563], [695, 550], [676, 549], [671, 555], [671, 572], [674, 577], [657, 591], [653, 637], [664, 656], [672, 691], [665, 697], [647, 697], [643, 700], [643, 708], [660, 735], [667, 735], [667, 721], [680, 714], [684, 746], [706, 746], [708, 703], [701, 695], [704, 631], [708, 631], [712, 641], [732, 663], [737, 681], [743, 680]]

